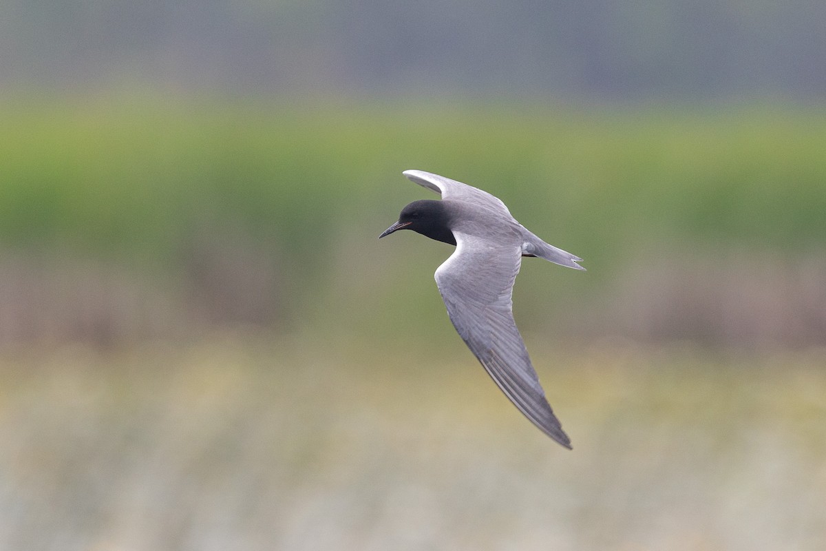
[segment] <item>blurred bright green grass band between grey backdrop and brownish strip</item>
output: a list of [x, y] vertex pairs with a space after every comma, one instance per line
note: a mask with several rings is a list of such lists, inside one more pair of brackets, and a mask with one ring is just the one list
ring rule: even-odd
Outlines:
[[154, 257], [196, 222], [228, 219], [295, 254], [419, 195], [399, 175], [417, 166], [507, 196], [600, 253], [662, 232], [823, 245], [826, 112], [486, 107], [7, 107], [0, 232], [7, 244]]

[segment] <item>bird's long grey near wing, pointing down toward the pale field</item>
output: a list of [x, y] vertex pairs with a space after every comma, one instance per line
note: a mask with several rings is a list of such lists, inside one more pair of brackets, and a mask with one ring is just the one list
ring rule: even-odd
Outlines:
[[571, 448], [513, 318], [511, 296], [522, 250], [454, 235], [456, 251], [435, 273], [450, 321], [510, 401], [546, 435]]

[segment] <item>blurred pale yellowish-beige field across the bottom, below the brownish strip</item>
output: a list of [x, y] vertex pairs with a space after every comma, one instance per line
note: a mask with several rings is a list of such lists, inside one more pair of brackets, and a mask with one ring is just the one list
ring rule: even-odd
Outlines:
[[216, 337], [0, 358], [0, 549], [826, 549], [826, 352]]

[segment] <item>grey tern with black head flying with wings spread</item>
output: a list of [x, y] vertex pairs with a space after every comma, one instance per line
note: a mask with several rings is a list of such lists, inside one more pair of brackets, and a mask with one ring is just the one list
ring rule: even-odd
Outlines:
[[572, 449], [548, 404], [513, 316], [513, 286], [523, 257], [585, 270], [579, 257], [548, 245], [511, 216], [501, 199], [481, 189], [423, 170], [406, 170], [412, 182], [439, 193], [401, 209], [398, 230], [455, 245], [434, 273], [448, 316], [459, 336], [506, 397], [558, 444]]

